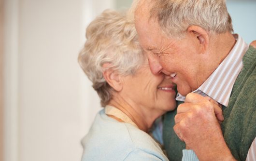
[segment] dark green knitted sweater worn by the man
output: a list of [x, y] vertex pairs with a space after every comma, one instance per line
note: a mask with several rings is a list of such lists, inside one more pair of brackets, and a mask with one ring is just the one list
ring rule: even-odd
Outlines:
[[[176, 113], [177, 110], [168, 112], [163, 124], [164, 148], [170, 161], [181, 161], [185, 149], [185, 143], [173, 131]], [[242, 71], [233, 86], [228, 107], [223, 107], [223, 115], [221, 128], [228, 148], [238, 161], [245, 161], [256, 137], [256, 49], [252, 46], [243, 56]]]

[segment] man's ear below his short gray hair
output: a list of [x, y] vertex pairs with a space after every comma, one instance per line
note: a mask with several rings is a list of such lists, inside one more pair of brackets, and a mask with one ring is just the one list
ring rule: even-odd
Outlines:
[[190, 26], [187, 32], [198, 42], [199, 51], [204, 54], [209, 47], [209, 34], [206, 30], [199, 26]]

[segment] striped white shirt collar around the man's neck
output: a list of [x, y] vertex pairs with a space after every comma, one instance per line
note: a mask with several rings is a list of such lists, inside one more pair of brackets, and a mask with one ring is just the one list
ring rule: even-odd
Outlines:
[[[234, 37], [237, 41], [228, 56], [210, 77], [193, 92], [203, 96], [209, 96], [226, 107], [228, 106], [235, 80], [242, 70], [242, 57], [249, 48], [238, 34], [234, 34]], [[178, 93], [176, 100], [185, 101], [185, 96]]]

